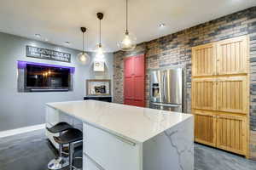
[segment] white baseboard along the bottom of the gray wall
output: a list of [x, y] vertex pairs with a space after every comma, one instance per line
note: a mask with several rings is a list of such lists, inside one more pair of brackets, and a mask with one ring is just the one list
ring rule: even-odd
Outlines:
[[28, 132], [40, 130], [43, 128], [45, 128], [45, 123], [40, 124], [40, 125], [31, 126], [31, 127], [20, 127], [20, 128], [15, 128], [12, 130], [0, 131], [0, 138], [13, 136], [13, 135], [20, 134], [20, 133], [28, 133]]

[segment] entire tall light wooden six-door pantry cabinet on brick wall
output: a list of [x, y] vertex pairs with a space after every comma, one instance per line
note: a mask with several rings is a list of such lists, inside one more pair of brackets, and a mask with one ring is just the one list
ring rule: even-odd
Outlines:
[[247, 156], [248, 37], [192, 48], [195, 141]]

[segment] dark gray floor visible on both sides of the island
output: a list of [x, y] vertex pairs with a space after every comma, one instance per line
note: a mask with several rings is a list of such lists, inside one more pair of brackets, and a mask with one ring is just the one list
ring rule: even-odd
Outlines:
[[[44, 130], [0, 139], [0, 170], [47, 170], [53, 157]], [[195, 170], [256, 170], [256, 161], [195, 144]]]

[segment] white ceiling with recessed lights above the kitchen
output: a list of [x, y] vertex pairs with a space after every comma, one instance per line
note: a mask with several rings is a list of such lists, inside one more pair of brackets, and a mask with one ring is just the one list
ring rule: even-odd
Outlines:
[[[256, 6], [255, 0], [129, 0], [130, 31], [146, 42], [190, 26]], [[80, 26], [86, 32], [86, 50], [98, 41], [96, 13], [102, 20], [102, 43], [108, 52], [118, 50], [125, 31], [125, 0], [1, 0], [0, 31], [21, 37], [82, 48]], [[160, 23], [166, 27], [160, 28]], [[42, 38], [35, 37], [35, 34]]]

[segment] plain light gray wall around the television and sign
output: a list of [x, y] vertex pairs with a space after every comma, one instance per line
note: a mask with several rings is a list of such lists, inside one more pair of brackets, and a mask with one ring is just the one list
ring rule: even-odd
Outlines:
[[[72, 62], [64, 63], [45, 59], [26, 57], [26, 45], [40, 48], [49, 48], [72, 54]], [[0, 131], [42, 124], [45, 121], [44, 104], [67, 100], [80, 100], [85, 95], [85, 79], [113, 77], [113, 54], [106, 54], [105, 72], [92, 71], [92, 62], [95, 54], [91, 56], [89, 65], [80, 65], [75, 59], [78, 50], [58, 47], [49, 43], [38, 42], [23, 37], [0, 32]], [[67, 65], [76, 68], [74, 75], [74, 90], [72, 92], [17, 92], [17, 60], [42, 62], [54, 65]]]

